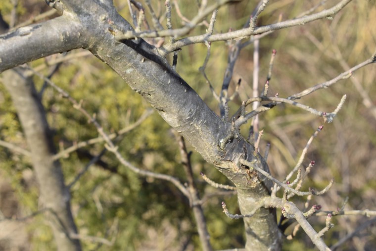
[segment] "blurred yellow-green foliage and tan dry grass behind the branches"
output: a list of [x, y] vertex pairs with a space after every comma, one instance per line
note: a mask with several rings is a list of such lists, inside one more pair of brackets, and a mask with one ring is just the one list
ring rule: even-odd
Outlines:
[[[339, 0], [329, 0], [316, 12], [328, 9]], [[209, 1], [209, 4], [212, 1]], [[262, 12], [258, 25], [267, 25], [291, 19], [317, 5], [320, 0], [271, 1]], [[16, 3], [16, 4], [15, 4]], [[115, 0], [118, 11], [131, 20], [127, 1]], [[145, 2], [141, 1], [148, 23], [151, 17]], [[182, 17], [191, 19], [197, 13], [197, 4], [189, 0], [171, 1], [172, 24], [181, 27]], [[214, 32], [240, 29], [256, 6], [256, 1], [239, 1], [220, 8]], [[16, 6], [16, 7], [14, 7]], [[166, 27], [164, 1], [152, 1], [156, 14]], [[177, 11], [177, 6], [178, 10]], [[17, 26], [49, 11], [42, 0], [2, 0], [0, 12], [4, 21]], [[178, 12], [180, 12], [178, 14]], [[58, 14], [52, 14], [46, 19]], [[46, 19], [42, 19], [44, 21]], [[209, 22], [210, 16], [206, 18]], [[333, 19], [318, 20], [304, 26], [276, 31], [259, 42], [259, 88], [263, 89], [272, 50], [277, 50], [269, 94], [286, 98], [308, 87], [328, 81], [351, 67], [367, 60], [376, 50], [376, 5], [374, 0], [353, 0]], [[141, 26], [141, 30], [145, 27]], [[189, 35], [205, 33], [205, 25], [198, 26]], [[168, 41], [168, 40], [166, 40]], [[151, 41], [152, 42], [152, 41]], [[230, 42], [211, 44], [211, 56], [206, 75], [219, 94]], [[233, 114], [241, 101], [252, 97], [253, 73], [252, 44], [241, 50], [235, 64], [230, 95], [238, 79], [242, 79], [239, 96], [229, 103]], [[205, 78], [198, 68], [202, 66], [207, 48], [203, 44], [183, 48], [179, 52], [177, 72], [218, 114], [218, 102], [213, 98]], [[65, 58], [60, 60], [61, 58]], [[172, 62], [171, 55], [168, 59]], [[59, 87], [83, 106], [95, 113], [104, 131], [118, 132], [132, 125], [150, 109], [141, 96], [132, 91], [124, 81], [104, 63], [84, 50], [56, 54], [30, 63], [39, 72], [48, 75], [60, 60], [52, 75]], [[49, 64], [52, 65], [49, 65]], [[58, 151], [97, 138], [93, 125], [54, 90], [43, 87], [43, 81], [34, 79], [37, 90], [44, 90], [43, 103], [47, 118], [54, 132]], [[311, 160], [316, 164], [308, 176], [303, 190], [308, 187], [323, 189], [334, 178], [331, 190], [322, 197], [314, 197], [311, 204], [322, 205], [322, 210], [336, 210], [344, 201], [345, 210], [376, 210], [376, 65], [356, 71], [350, 78], [341, 80], [328, 89], [319, 90], [298, 102], [317, 110], [332, 112], [341, 97], [347, 100], [331, 124], [309, 148], [303, 167]], [[27, 149], [17, 114], [10, 97], [0, 85], [0, 140]], [[247, 107], [250, 111], [251, 107]], [[260, 115], [260, 129], [264, 129], [261, 153], [268, 142], [271, 149], [268, 164], [272, 174], [283, 180], [295, 166], [310, 136], [322, 125], [323, 119], [306, 111], [282, 104]], [[242, 128], [248, 136], [249, 123]], [[172, 129], [154, 112], [138, 127], [126, 133], [118, 143], [125, 159], [141, 169], [153, 170], [178, 177], [185, 182], [178, 143]], [[232, 220], [222, 213], [225, 201], [232, 213], [239, 213], [236, 196], [224, 193], [206, 184], [199, 173], [212, 180], [230, 184], [213, 166], [198, 153], [192, 153], [193, 173], [203, 204], [211, 244], [216, 250], [244, 247], [243, 222]], [[103, 151], [103, 143], [61, 154], [66, 184], [70, 184], [84, 170], [90, 160]], [[82, 240], [84, 250], [199, 250], [200, 244], [189, 201], [173, 184], [157, 179], [139, 177], [119, 164], [114, 155], [106, 152], [90, 166], [71, 187], [72, 212], [80, 234], [113, 240], [112, 246], [93, 240]], [[29, 251], [51, 250], [54, 241], [43, 214], [31, 215], [39, 210], [38, 184], [28, 156], [0, 146], [0, 250]], [[346, 199], [348, 198], [348, 200]], [[305, 198], [294, 198], [303, 208]], [[325, 226], [323, 216], [312, 216], [309, 221], [319, 231]], [[21, 220], [17, 220], [21, 219]], [[337, 243], [357, 227], [370, 220], [366, 216], [336, 216], [335, 227], [325, 234], [328, 246]], [[293, 225], [292, 225], [293, 227]], [[291, 229], [285, 232], [291, 233]], [[348, 240], [339, 250], [374, 250], [376, 227], [369, 224]], [[297, 236], [285, 241], [284, 250], [315, 250], [313, 244], [300, 230]]]

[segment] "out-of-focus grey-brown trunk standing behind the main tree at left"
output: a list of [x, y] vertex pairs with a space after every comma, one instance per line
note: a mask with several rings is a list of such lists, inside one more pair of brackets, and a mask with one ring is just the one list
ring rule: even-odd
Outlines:
[[32, 162], [40, 188], [40, 201], [48, 208], [56, 246], [59, 251], [80, 251], [77, 234], [70, 209], [70, 194], [64, 184], [60, 163], [53, 161], [54, 147], [48, 128], [46, 114], [31, 78], [25, 78], [21, 68], [3, 73], [3, 82], [16, 107], [26, 140], [32, 153]]

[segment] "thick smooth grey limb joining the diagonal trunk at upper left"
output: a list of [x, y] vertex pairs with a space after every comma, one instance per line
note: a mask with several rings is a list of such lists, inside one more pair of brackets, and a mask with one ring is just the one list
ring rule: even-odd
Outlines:
[[0, 72], [50, 54], [84, 47], [84, 28], [68, 16], [0, 36]]

